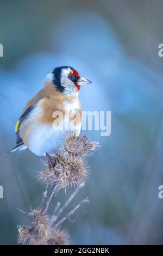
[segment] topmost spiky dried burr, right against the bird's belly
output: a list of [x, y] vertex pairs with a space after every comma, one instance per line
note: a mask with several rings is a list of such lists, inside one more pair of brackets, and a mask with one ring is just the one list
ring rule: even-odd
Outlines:
[[71, 156], [85, 157], [90, 156], [97, 147], [98, 142], [91, 142], [86, 135], [76, 136], [72, 132], [66, 136], [63, 150]]

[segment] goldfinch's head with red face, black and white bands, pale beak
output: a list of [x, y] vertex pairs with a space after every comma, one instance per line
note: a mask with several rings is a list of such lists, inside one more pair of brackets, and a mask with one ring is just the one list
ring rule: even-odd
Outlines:
[[71, 66], [59, 66], [54, 68], [46, 77], [51, 81], [56, 89], [66, 95], [74, 95], [79, 92], [80, 86], [92, 83], [84, 77], [81, 77], [76, 69]]

